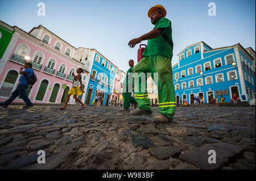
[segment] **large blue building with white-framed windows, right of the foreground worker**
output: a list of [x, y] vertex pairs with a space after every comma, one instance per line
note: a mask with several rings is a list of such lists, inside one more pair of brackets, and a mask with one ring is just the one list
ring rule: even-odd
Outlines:
[[255, 99], [255, 51], [241, 44], [211, 48], [203, 41], [178, 54], [172, 67], [176, 103], [180, 99], [193, 104], [195, 96], [209, 103], [221, 95], [230, 102], [234, 92], [241, 101]]

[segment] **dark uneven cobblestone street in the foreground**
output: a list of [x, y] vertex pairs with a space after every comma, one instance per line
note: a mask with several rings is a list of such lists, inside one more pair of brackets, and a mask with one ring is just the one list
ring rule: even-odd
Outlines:
[[255, 169], [255, 107], [177, 107], [162, 124], [117, 107], [59, 107], [0, 107], [1, 169]]

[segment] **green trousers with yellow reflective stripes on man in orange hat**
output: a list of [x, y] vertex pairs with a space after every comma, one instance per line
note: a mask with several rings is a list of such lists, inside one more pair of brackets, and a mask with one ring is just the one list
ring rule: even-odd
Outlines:
[[[132, 72], [135, 99], [138, 103], [138, 107], [143, 110], [151, 110], [151, 102], [147, 97], [147, 90], [142, 90], [141, 79], [145, 78], [147, 73], [151, 73], [152, 79], [154, 80], [154, 73], [158, 73], [158, 84], [156, 86], [158, 87], [159, 112], [167, 117], [173, 117], [176, 110], [176, 103], [171, 59], [164, 56], [143, 57], [142, 60], [134, 66]], [[143, 77], [141, 73], [144, 73], [145, 76]], [[147, 82], [145, 82], [145, 84], [145, 87], [147, 87]]]

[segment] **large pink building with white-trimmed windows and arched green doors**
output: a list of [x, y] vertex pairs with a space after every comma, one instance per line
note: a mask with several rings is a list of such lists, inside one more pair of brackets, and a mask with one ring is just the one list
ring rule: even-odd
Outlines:
[[[3, 22], [0, 22], [3, 23]], [[5, 24], [6, 26], [7, 24]], [[88, 69], [84, 62], [73, 58], [76, 48], [48, 31], [43, 26], [25, 32], [14, 26], [15, 33], [1, 60], [0, 102], [5, 101], [16, 89], [19, 82], [19, 69], [24, 65], [24, 56], [29, 56], [38, 81], [27, 95], [32, 103], [63, 103], [72, 87], [77, 68], [84, 69], [82, 86], [88, 85]], [[85, 100], [85, 94], [80, 96]], [[14, 102], [23, 102], [15, 99]], [[73, 103], [71, 100], [69, 103]]]

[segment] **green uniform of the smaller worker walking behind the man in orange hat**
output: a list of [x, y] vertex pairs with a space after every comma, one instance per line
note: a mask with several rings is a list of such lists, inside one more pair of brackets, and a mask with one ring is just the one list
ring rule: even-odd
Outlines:
[[[128, 79], [128, 74], [131, 73], [132, 69], [133, 68], [130, 68], [129, 70], [127, 70], [126, 78], [125, 78], [125, 81], [123, 82], [123, 84], [125, 84], [123, 87], [123, 108], [125, 109], [129, 109], [131, 104], [135, 104], [135, 99], [131, 96], [131, 92], [128, 92], [128, 84], [130, 81], [132, 81]], [[130, 85], [132, 84], [130, 83]]]

